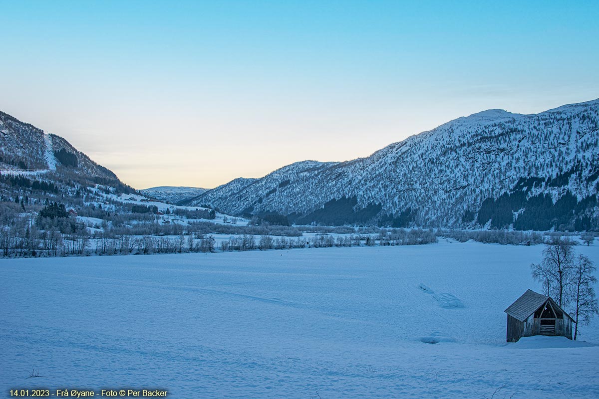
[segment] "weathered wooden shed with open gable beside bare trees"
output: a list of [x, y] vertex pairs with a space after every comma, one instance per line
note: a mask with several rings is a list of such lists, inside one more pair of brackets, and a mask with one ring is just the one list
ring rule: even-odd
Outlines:
[[507, 342], [533, 335], [572, 339], [572, 318], [551, 297], [527, 290], [507, 313]]

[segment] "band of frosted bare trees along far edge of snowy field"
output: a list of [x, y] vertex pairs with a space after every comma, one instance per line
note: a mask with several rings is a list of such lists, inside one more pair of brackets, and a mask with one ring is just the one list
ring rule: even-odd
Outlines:
[[[78, 221], [78, 218], [65, 218], [62, 224], [50, 219], [44, 228], [31, 221], [30, 224], [14, 223], [2, 230], [0, 250], [4, 257], [55, 257], [422, 245], [437, 242], [438, 237], [531, 245], [543, 242], [545, 237], [534, 232], [227, 226], [208, 221], [189, 221], [186, 225], [165, 226], [152, 219], [136, 221], [134, 229], [108, 227], [101, 220], [96, 220], [93, 225], [96, 227], [90, 228], [89, 223], [86, 225]], [[347, 233], [348, 231], [353, 233]], [[592, 241], [594, 236], [583, 234], [582, 238]]]

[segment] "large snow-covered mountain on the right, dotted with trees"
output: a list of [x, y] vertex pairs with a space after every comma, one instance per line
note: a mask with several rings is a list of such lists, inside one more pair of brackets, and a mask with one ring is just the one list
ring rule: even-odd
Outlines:
[[599, 99], [490, 109], [347, 162], [304, 161], [187, 201], [295, 223], [598, 229]]

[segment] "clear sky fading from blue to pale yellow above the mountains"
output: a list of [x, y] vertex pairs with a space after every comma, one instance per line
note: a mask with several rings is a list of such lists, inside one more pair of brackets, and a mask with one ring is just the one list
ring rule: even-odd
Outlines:
[[135, 188], [599, 98], [599, 1], [4, 1], [0, 111]]

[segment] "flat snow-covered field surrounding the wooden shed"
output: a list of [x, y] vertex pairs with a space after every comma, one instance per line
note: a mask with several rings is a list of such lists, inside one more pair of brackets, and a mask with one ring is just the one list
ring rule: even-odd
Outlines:
[[[505, 343], [503, 310], [540, 291], [529, 266], [542, 249], [444, 241], [0, 260], [0, 392], [597, 398], [599, 320], [582, 327], [588, 344]], [[599, 247], [577, 251], [599, 264]], [[43, 377], [28, 379], [33, 368]]]

